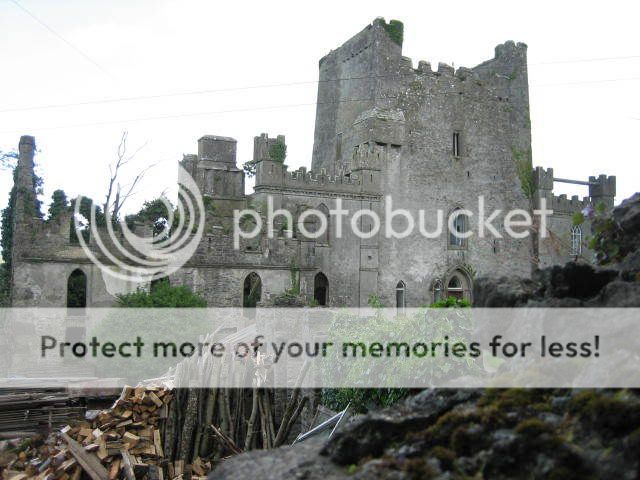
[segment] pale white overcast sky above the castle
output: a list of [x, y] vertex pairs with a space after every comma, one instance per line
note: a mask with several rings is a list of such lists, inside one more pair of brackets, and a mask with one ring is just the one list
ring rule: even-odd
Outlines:
[[[565, 178], [617, 175], [619, 202], [640, 190], [638, 10], [615, 1], [0, 0], [0, 149], [34, 135], [46, 201], [56, 188], [102, 201], [128, 130], [130, 151], [146, 144], [130, 172], [160, 162], [130, 210], [174, 187], [177, 162], [205, 134], [236, 138], [239, 164], [255, 135], [283, 134], [287, 164], [310, 166], [318, 60], [384, 16], [404, 22], [414, 66], [472, 67], [498, 43], [528, 44], [534, 165]], [[222, 91], [178, 95], [211, 90]], [[0, 175], [4, 207], [11, 178]]]

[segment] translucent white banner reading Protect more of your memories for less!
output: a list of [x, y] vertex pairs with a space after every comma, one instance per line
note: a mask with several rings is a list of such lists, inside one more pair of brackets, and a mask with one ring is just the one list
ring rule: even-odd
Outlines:
[[639, 313], [3, 309], [0, 387], [640, 388]]

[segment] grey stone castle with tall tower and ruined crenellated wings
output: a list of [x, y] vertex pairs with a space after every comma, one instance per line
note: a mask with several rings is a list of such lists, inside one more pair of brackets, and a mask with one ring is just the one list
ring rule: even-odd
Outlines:
[[[364, 306], [374, 295], [386, 306], [415, 307], [450, 295], [471, 299], [476, 275], [529, 276], [537, 266], [588, 255], [588, 232], [573, 227], [571, 217], [587, 205], [612, 207], [615, 177], [577, 182], [531, 168], [526, 45], [498, 45], [494, 58], [474, 68], [441, 63], [434, 70], [423, 61], [414, 68], [402, 56], [402, 29], [400, 22], [376, 19], [320, 60], [310, 170], [289, 171], [272, 154], [284, 137], [267, 134], [254, 140], [251, 194], [234, 139], [202, 137], [198, 153], [184, 156], [181, 165], [207, 199], [206, 230], [172, 284], [189, 286], [209, 306], [269, 304], [293, 288], [319, 305]], [[70, 213], [55, 222], [33, 218], [34, 149], [32, 137], [21, 139], [12, 305], [113, 305], [117, 293], [137, 285], [114, 281], [70, 242]], [[555, 196], [554, 181], [588, 185], [589, 197]], [[545, 199], [554, 210], [552, 237], [359, 238], [348, 229], [338, 237], [328, 213], [340, 199], [345, 209], [369, 209], [384, 219], [391, 199], [396, 209], [429, 216], [474, 206], [481, 195], [488, 210], [503, 212], [531, 211]], [[308, 238], [279, 218], [274, 238], [242, 239], [234, 248], [233, 211], [263, 215], [269, 198], [294, 219], [309, 208], [326, 212], [327, 233]], [[367, 221], [361, 218], [361, 231], [372, 229]], [[475, 221], [464, 218], [463, 227]], [[70, 305], [72, 284], [84, 298], [78, 302], [76, 292]]]

